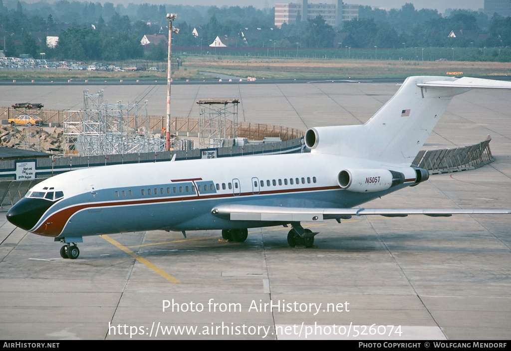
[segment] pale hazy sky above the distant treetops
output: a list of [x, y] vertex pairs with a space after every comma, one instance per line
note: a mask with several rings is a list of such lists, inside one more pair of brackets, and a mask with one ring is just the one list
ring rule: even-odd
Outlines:
[[[25, 0], [27, 3], [35, 3], [39, 0]], [[47, 0], [48, 2], [54, 2], [54, 0]], [[257, 8], [265, 8], [265, 7], [274, 7], [275, 3], [298, 3], [300, 0], [79, 0], [83, 2], [97, 2], [104, 4], [106, 2], [114, 3], [114, 4], [124, 4], [127, 5], [129, 3], [133, 4], [183, 4], [183, 5], [204, 5], [204, 6], [212, 6], [216, 5], [221, 7], [223, 5], [227, 6], [250, 6]], [[310, 3], [323, 3], [323, 4], [331, 4], [332, 0], [309, 0]], [[5, 3], [5, 1], [4, 1]], [[478, 10], [482, 9], [484, 6], [484, 0], [347, 0], [344, 1], [346, 4], [357, 4], [357, 5], [369, 5], [374, 7], [385, 8], [386, 10], [396, 8], [399, 9], [406, 3], [412, 3], [416, 9], [437, 9], [438, 12], [443, 13], [445, 9], [472, 9]]]

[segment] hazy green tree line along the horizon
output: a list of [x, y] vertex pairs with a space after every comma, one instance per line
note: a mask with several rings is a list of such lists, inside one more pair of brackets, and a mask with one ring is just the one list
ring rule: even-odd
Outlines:
[[[488, 18], [468, 10], [416, 10], [412, 4], [401, 9], [361, 6], [359, 18], [337, 28], [321, 17], [274, 27], [274, 9], [248, 7], [183, 6], [112, 3], [79, 3], [59, 0], [53, 4], [0, 0], [0, 41], [5, 38], [6, 56], [45, 52], [61, 60], [123, 60], [166, 57], [165, 45], [144, 53], [140, 41], [146, 34], [168, 34], [166, 14], [178, 18], [180, 29], [174, 45], [207, 47], [219, 36], [231, 46], [311, 48], [342, 45], [358, 48], [405, 47], [505, 47], [511, 44], [511, 19]], [[198, 36], [192, 34], [196, 29]], [[455, 31], [457, 38], [449, 38]], [[58, 36], [55, 48], [45, 47], [47, 36]], [[2, 38], [3, 37], [3, 38]], [[247, 39], [248, 38], [248, 39]], [[339, 42], [337, 42], [339, 41]]]

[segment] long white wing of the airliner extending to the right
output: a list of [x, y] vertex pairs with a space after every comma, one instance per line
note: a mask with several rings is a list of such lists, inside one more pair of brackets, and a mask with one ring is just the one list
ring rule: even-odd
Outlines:
[[320, 222], [324, 219], [349, 219], [352, 216], [380, 215], [406, 217], [422, 214], [430, 217], [450, 217], [453, 214], [511, 214], [511, 210], [492, 209], [365, 209], [365, 208], [297, 208], [253, 205], [219, 205], [215, 216], [229, 220]]

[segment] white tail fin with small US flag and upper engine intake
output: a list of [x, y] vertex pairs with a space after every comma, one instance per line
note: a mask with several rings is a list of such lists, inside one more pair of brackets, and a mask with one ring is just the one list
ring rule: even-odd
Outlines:
[[468, 77], [409, 77], [362, 126], [313, 128], [307, 131], [305, 142], [317, 153], [410, 165], [451, 99], [472, 88], [511, 89], [511, 83]]

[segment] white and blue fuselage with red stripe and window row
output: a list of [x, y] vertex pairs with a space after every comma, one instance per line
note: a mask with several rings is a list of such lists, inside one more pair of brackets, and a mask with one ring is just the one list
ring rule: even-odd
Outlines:
[[310, 153], [103, 166], [37, 184], [8, 219], [52, 237], [264, 227], [282, 223], [230, 221], [211, 211], [222, 204], [351, 208], [415, 182], [407, 177], [404, 184], [371, 192], [339, 186], [340, 170], [371, 168], [411, 170]]

